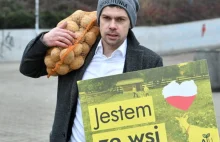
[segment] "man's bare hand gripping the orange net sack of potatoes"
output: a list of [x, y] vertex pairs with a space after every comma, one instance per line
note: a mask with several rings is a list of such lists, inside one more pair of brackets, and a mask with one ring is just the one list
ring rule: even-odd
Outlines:
[[66, 30], [66, 26], [67, 22], [64, 22], [50, 30], [43, 36], [43, 42], [48, 47], [58, 46], [67, 48], [68, 46], [73, 45], [76, 35], [73, 32]]

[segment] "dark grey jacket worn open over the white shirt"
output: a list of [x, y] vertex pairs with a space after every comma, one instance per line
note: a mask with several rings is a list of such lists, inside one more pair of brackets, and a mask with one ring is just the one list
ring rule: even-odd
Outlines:
[[[47, 74], [44, 56], [48, 48], [41, 42], [40, 37], [41, 35], [37, 36], [27, 45], [20, 64], [20, 72], [33, 78]], [[94, 56], [99, 39], [96, 40], [80, 69], [58, 77], [57, 104], [50, 135], [51, 142], [67, 142], [70, 139], [78, 97], [76, 81], [82, 79], [85, 69]], [[131, 30], [127, 39], [128, 47], [123, 72], [163, 66], [162, 58], [148, 48], [139, 45]]]

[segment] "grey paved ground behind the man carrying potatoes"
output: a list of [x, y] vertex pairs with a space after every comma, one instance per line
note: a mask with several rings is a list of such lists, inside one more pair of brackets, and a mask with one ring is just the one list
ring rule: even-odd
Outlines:
[[[164, 64], [193, 61], [193, 53], [164, 56]], [[0, 142], [48, 142], [56, 103], [57, 79], [32, 79], [19, 63], [0, 63]], [[220, 92], [213, 93], [220, 128]]]

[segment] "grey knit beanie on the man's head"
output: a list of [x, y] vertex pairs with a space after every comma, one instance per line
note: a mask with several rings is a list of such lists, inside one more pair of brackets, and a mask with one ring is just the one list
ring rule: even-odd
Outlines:
[[99, 0], [97, 5], [97, 22], [100, 22], [100, 15], [102, 9], [109, 5], [119, 6], [127, 12], [130, 21], [131, 28], [133, 28], [137, 21], [137, 12], [140, 8], [138, 0]]

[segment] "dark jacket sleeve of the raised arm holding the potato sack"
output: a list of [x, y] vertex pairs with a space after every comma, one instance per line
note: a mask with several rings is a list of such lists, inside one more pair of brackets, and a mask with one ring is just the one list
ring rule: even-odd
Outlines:
[[25, 76], [38, 78], [47, 74], [44, 57], [48, 47], [40, 40], [43, 34], [41, 33], [31, 40], [24, 50], [20, 63], [20, 72]]

